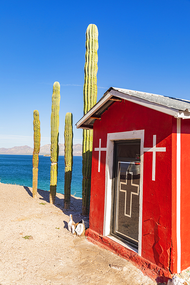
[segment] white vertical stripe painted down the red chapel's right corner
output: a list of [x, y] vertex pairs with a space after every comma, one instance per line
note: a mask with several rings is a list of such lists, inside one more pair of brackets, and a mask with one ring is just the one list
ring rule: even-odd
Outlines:
[[181, 272], [181, 119], [177, 119], [177, 175], [176, 175], [176, 236], [177, 236], [177, 273]]

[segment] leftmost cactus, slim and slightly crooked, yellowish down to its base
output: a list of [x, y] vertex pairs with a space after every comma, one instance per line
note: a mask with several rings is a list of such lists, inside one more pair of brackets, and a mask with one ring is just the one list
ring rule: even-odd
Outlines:
[[32, 179], [32, 196], [37, 198], [37, 189], [38, 189], [38, 162], [39, 162], [39, 151], [40, 151], [40, 120], [38, 110], [34, 110], [34, 151], [32, 157], [33, 164], [33, 179]]

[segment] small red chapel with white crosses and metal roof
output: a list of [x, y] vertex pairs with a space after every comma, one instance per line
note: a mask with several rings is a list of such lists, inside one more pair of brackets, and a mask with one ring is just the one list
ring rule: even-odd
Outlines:
[[189, 267], [190, 101], [111, 87], [76, 125], [93, 129], [87, 238], [153, 279]]

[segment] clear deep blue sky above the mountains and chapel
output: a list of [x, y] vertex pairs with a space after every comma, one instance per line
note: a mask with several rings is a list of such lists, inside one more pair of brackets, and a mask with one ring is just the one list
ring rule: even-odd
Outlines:
[[83, 116], [85, 31], [99, 30], [100, 99], [120, 87], [190, 100], [190, 1], [1, 1], [0, 147], [50, 143], [52, 87], [61, 85], [60, 143], [66, 112]]

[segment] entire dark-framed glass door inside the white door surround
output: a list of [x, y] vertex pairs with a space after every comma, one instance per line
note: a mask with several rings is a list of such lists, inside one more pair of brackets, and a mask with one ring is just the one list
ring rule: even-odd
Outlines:
[[138, 248], [140, 140], [115, 143], [113, 235]]

